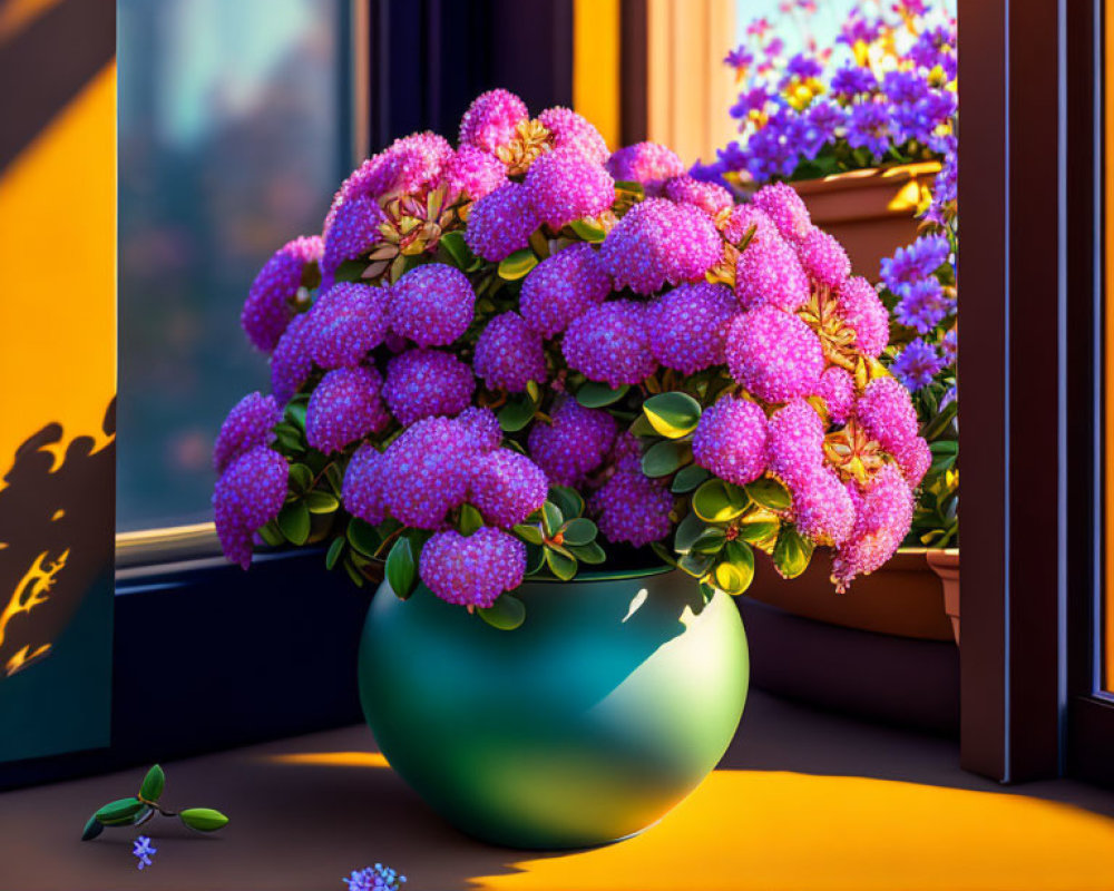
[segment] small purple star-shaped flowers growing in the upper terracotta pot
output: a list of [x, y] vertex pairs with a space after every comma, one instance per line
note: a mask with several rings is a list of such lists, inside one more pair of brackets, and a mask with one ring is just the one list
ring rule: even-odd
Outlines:
[[702, 176], [745, 172], [765, 183], [820, 175], [812, 164], [827, 173], [954, 157], [955, 19], [912, 7], [852, 12], [837, 39], [847, 49], [834, 53], [813, 48], [785, 59], [768, 23], [749, 29], [751, 42], [724, 60], [741, 82], [729, 114], [742, 137]]

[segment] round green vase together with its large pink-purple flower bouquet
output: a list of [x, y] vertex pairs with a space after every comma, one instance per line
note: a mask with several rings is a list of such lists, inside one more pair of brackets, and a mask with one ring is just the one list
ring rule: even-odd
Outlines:
[[624, 838], [688, 794], [742, 713], [727, 595], [755, 554], [792, 577], [827, 546], [843, 589], [900, 545], [931, 461], [879, 361], [886, 307], [797, 193], [736, 205], [502, 90], [456, 148], [365, 161], [242, 322], [273, 392], [216, 441], [225, 554], [385, 574], [369, 724], [504, 844]]

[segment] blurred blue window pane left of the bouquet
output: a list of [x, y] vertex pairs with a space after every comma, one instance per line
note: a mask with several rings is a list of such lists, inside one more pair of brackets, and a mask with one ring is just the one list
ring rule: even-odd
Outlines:
[[344, 0], [120, 0], [119, 530], [209, 518], [255, 273], [346, 173]]

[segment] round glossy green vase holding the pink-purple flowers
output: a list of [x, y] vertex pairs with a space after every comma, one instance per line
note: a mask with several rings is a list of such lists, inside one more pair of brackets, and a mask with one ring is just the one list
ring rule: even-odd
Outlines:
[[360, 697], [391, 766], [462, 831], [560, 849], [641, 832], [715, 767], [742, 717], [739, 610], [676, 570], [528, 581], [526, 621], [488, 626], [384, 584]]

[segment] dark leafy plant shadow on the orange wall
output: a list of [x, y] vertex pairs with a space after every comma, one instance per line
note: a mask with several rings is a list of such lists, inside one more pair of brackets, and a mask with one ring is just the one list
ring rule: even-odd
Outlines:
[[111, 550], [106, 531], [116, 466], [116, 400], [95, 451], [92, 437], [63, 448], [50, 423], [29, 437], [0, 488], [0, 684], [48, 658]]

